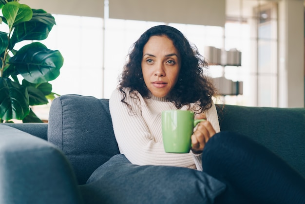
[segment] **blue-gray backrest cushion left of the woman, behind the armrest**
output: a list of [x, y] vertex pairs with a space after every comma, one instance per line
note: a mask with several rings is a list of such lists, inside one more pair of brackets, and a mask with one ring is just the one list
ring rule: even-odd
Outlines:
[[53, 100], [48, 141], [67, 156], [78, 183], [85, 184], [97, 167], [119, 153], [109, 100], [73, 94]]

